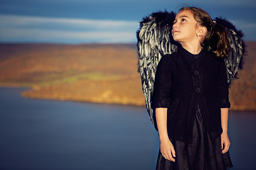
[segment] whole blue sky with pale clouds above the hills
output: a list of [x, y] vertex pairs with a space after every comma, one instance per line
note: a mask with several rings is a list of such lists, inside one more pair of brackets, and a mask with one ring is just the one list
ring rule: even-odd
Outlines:
[[196, 6], [256, 41], [255, 0], [0, 0], [0, 43], [136, 43], [144, 16]]

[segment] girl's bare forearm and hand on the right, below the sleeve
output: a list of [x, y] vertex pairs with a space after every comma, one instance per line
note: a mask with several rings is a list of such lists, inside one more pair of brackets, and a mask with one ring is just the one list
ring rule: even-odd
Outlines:
[[[227, 135], [227, 119], [228, 119], [228, 108], [221, 108], [221, 127], [223, 132], [221, 134], [221, 149], [222, 153], [228, 151], [230, 141]], [[224, 144], [224, 148], [223, 148]]]

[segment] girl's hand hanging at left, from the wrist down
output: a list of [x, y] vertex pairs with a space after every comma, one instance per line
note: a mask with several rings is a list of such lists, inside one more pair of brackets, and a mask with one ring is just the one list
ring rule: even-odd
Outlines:
[[160, 151], [165, 159], [175, 162], [175, 150], [174, 145], [169, 139], [161, 140]]

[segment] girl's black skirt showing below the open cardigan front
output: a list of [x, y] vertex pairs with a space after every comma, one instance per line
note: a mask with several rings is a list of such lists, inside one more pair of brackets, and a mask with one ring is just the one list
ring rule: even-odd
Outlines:
[[156, 169], [226, 170], [233, 167], [229, 152], [222, 153], [221, 137], [211, 140], [199, 107], [193, 126], [192, 140], [191, 144], [185, 144], [170, 139], [176, 151], [175, 162], [165, 159], [159, 150]]

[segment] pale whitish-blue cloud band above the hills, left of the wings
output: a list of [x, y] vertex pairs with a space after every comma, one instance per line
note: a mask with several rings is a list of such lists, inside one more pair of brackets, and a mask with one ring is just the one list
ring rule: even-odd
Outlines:
[[0, 41], [134, 43], [138, 22], [0, 15]]

